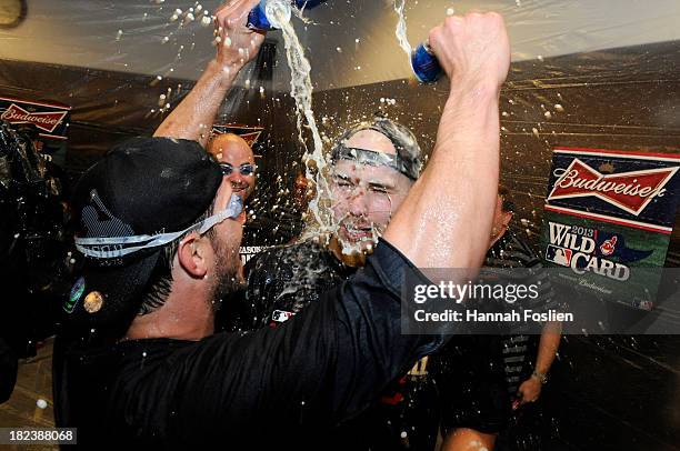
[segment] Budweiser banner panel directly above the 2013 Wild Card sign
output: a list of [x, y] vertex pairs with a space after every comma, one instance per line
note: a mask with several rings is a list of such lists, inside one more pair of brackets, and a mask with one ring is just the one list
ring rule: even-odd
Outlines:
[[680, 154], [556, 149], [546, 209], [670, 234]]

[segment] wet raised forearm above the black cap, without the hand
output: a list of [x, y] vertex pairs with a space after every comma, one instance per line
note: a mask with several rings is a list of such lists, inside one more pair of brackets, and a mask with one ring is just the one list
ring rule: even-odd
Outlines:
[[226, 69], [216, 60], [211, 61], [191, 92], [166, 118], [153, 136], [189, 139], [206, 147], [220, 104], [239, 70], [240, 66], [237, 64]]

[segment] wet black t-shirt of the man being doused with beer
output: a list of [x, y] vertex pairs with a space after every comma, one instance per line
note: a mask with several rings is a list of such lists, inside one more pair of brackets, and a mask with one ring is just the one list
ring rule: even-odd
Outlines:
[[[319, 302], [323, 292], [356, 271], [312, 240], [260, 252], [246, 267], [244, 307], [238, 308], [239, 320], [228, 330], [278, 327]], [[336, 429], [327, 449], [432, 449], [437, 393], [428, 378], [427, 360], [419, 363], [419, 371], [404, 371], [368, 411]]]

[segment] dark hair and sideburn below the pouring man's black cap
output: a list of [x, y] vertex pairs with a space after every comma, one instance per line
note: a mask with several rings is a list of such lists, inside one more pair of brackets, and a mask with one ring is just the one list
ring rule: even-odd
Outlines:
[[[197, 218], [194, 223], [200, 223], [210, 218], [212, 216], [214, 200], [210, 203], [210, 207], [208, 207], [206, 212]], [[161, 254], [156, 263], [156, 268], [153, 268], [151, 277], [149, 278], [147, 289], [142, 294], [142, 302], [137, 314], [143, 315], [151, 313], [166, 303], [172, 289], [172, 262], [174, 261], [174, 255], [179, 249], [179, 243], [192, 232], [193, 230], [190, 230], [161, 248]], [[206, 237], [212, 241], [214, 239], [214, 228], [212, 228], [206, 232]]]

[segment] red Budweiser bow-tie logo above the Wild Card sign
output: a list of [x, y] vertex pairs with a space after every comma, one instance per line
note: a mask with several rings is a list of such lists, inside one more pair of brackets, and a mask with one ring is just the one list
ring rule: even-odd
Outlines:
[[569, 168], [556, 169], [558, 177], [548, 200], [593, 196], [631, 214], [638, 216], [663, 188], [680, 167], [602, 174], [573, 159]]

